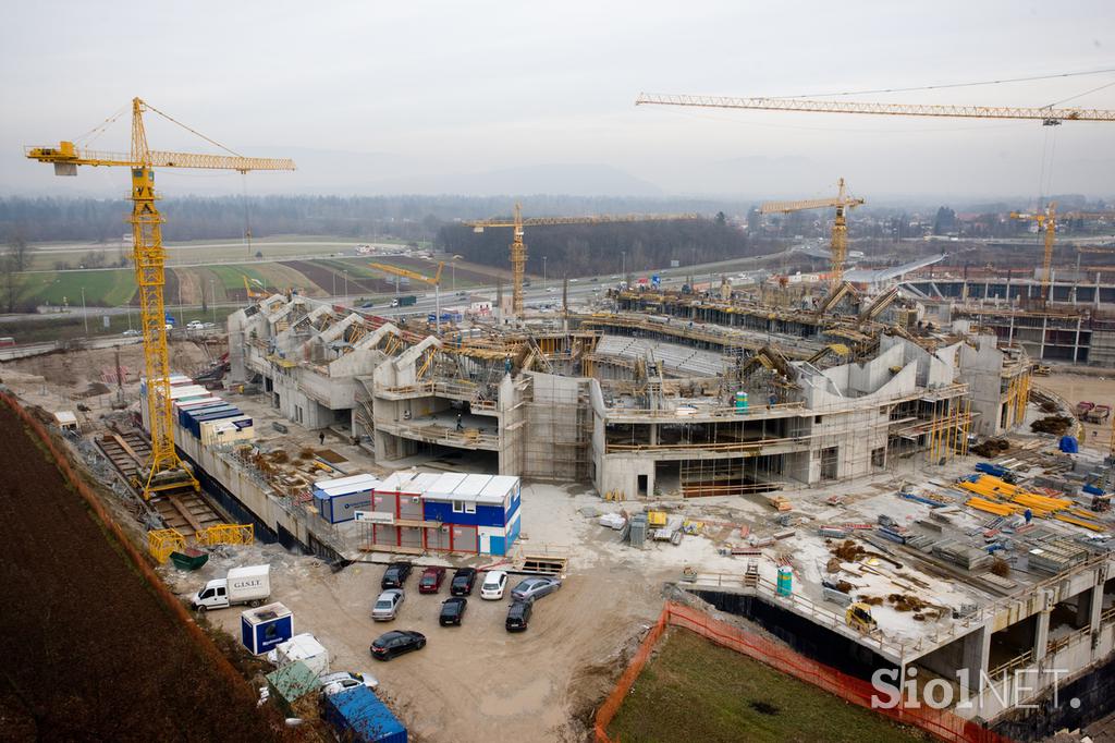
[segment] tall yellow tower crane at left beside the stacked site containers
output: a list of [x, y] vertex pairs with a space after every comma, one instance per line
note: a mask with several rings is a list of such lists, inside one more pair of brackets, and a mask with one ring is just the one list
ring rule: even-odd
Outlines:
[[[178, 459], [174, 448], [174, 408], [171, 401], [171, 363], [166, 348], [166, 312], [163, 305], [165, 286], [163, 216], [155, 208], [156, 167], [195, 167], [205, 170], [292, 171], [294, 161], [285, 158], [200, 155], [163, 152], [147, 147], [143, 114], [154, 112], [178, 124], [139, 98], [132, 100], [132, 152], [94, 152], [61, 142], [57, 147], [26, 147], [31, 160], [52, 163], [56, 175], [77, 175], [78, 165], [127, 167], [132, 171], [132, 237], [136, 284], [139, 289], [139, 318], [143, 329], [144, 370], [147, 378], [147, 403], [151, 413], [151, 461], [143, 471], [143, 495], [180, 489], [185, 484], [197, 488], [197, 481]], [[112, 119], [110, 119], [112, 120]], [[107, 122], [106, 122], [107, 124]], [[183, 126], [182, 124], [178, 124]], [[188, 127], [183, 127], [187, 128]], [[193, 129], [190, 129], [193, 132]], [[195, 133], [196, 134], [196, 133]], [[206, 138], [207, 137], [203, 137]], [[207, 139], [213, 143], [212, 139]], [[216, 144], [216, 143], [213, 143]], [[232, 151], [229, 151], [232, 152]]]

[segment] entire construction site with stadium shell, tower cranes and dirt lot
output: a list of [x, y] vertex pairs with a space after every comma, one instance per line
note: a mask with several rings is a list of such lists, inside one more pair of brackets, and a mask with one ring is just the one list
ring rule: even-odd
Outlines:
[[[639, 104], [1115, 119], [688, 96]], [[1103, 225], [1115, 211], [1058, 214], [1048, 203], [1012, 213], [1043, 240], [1029, 247], [1040, 266], [1017, 278], [943, 255], [851, 269], [847, 224], [865, 200], [841, 178], [832, 197], [759, 210], [823, 215], [828, 266], [816, 280], [724, 273], [700, 286], [692, 271], [662, 267], [571, 274], [559, 300], [531, 286], [530, 231], [702, 218], [524, 218], [516, 205], [462, 223], [506, 231], [507, 287], [443, 297], [445, 254], [429, 273], [371, 263], [397, 281], [380, 308], [258, 292], [245, 278], [241, 306], [186, 334], [167, 321], [154, 172], [294, 164], [154, 151], [143, 117], [159, 112], [139, 98], [130, 112], [129, 154], [69, 142], [26, 154], [60, 174], [130, 173], [140, 330], [109, 348], [12, 349], [0, 423], [20, 445], [2, 454], [10, 472], [37, 456], [26, 428], [59, 464], [51, 492], [70, 488], [119, 524], [114, 539], [175, 621], [193, 627], [204, 614], [227, 633], [222, 653], [235, 670], [215, 650], [197, 663], [240, 702], [260, 697], [261, 728], [292, 740], [618, 740], [612, 720], [669, 627], [864, 710], [889, 674], [905, 696], [878, 714], [911, 740], [1036, 741], [1115, 713], [1115, 387], [1102, 376], [1115, 373], [1115, 268], [1053, 264], [1058, 220]], [[1115, 237], [1106, 243], [1096, 250]], [[415, 293], [399, 292], [403, 279]], [[8, 489], [18, 493], [14, 480]], [[55, 508], [76, 506], [36, 502], [27, 529], [54, 528]], [[18, 532], [0, 541], [38, 549]], [[417, 648], [427, 638], [429, 648], [377, 663], [371, 678], [376, 597], [401, 589], [411, 567], [433, 591], [420, 583], [387, 619], [424, 633]], [[256, 568], [264, 588], [236, 598], [236, 571]], [[440, 596], [418, 596], [437, 594], [446, 569], [453, 596], [477, 570], [511, 573], [507, 598], [524, 579], [556, 592], [524, 601], [536, 601], [530, 631], [510, 634], [506, 601], [481, 600], [484, 589], [449, 628]], [[246, 606], [215, 610], [237, 602]], [[320, 652], [294, 653], [304, 635]], [[382, 711], [377, 724], [401, 737], [352, 722], [337, 699], [353, 692], [319, 683], [338, 672], [374, 688], [365, 693]], [[192, 698], [180, 686], [173, 693]], [[917, 702], [946, 695], [940, 708]], [[66, 724], [58, 715], [38, 733], [74, 736]], [[224, 724], [260, 735], [254, 717], [184, 735], [221, 737]]]

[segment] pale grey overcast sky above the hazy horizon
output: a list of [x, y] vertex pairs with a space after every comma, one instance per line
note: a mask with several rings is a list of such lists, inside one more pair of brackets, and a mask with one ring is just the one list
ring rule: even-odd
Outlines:
[[[249, 193], [624, 193], [869, 203], [1115, 195], [1115, 124], [678, 109], [642, 91], [825, 94], [1115, 68], [1111, 0], [909, 2], [7, 2], [0, 193], [125, 192], [55, 178], [21, 147], [133, 96], [300, 171]], [[1115, 74], [849, 99], [1041, 106]], [[1115, 108], [1115, 86], [1066, 105]], [[157, 118], [153, 148], [212, 147]], [[127, 116], [97, 142], [126, 151]], [[559, 167], [560, 166], [560, 167]], [[1051, 178], [1050, 178], [1051, 173]], [[163, 171], [167, 195], [241, 176]]]

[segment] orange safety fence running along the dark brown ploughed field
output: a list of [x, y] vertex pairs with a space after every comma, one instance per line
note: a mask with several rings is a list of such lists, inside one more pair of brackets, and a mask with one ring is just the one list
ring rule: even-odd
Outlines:
[[185, 630], [194, 638], [194, 640], [201, 646], [202, 652], [209, 656], [210, 662], [215, 666], [216, 670], [223, 674], [232, 683], [236, 693], [242, 697], [244, 704], [254, 704], [258, 699], [252, 692], [252, 688], [244, 682], [244, 677], [233, 668], [232, 663], [229, 658], [224, 656], [223, 653], [217, 648], [209, 635], [206, 635], [194, 618], [190, 616], [185, 607], [182, 605], [175, 596], [167, 589], [166, 583], [159, 579], [158, 573], [151, 567], [144, 556], [136, 549], [135, 544], [124, 533], [119, 524], [109, 515], [105, 505], [100, 502], [100, 498], [93, 492], [93, 489], [86, 483], [85, 479], [74, 469], [70, 463], [70, 457], [67, 452], [65, 452], [58, 442], [46, 427], [37, 421], [27, 409], [20, 405], [19, 401], [3, 392], [0, 392], [0, 402], [3, 402], [16, 415], [20, 417], [23, 425], [27, 426], [28, 432], [47, 450], [50, 452], [50, 457], [57, 465], [58, 470], [61, 472], [62, 477], [69, 485], [77, 491], [77, 493], [85, 500], [89, 505], [89, 509], [94, 512], [97, 520], [104, 524], [105, 529], [110, 534], [112, 539], [123, 549], [128, 561], [135, 566], [135, 569], [142, 575], [147, 583], [149, 585], [152, 591], [162, 600], [163, 605], [175, 616], [178, 621], [182, 623]]

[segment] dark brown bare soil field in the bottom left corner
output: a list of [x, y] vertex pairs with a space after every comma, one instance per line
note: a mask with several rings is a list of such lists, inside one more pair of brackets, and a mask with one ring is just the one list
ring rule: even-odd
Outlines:
[[0, 739], [281, 740], [0, 406]]

